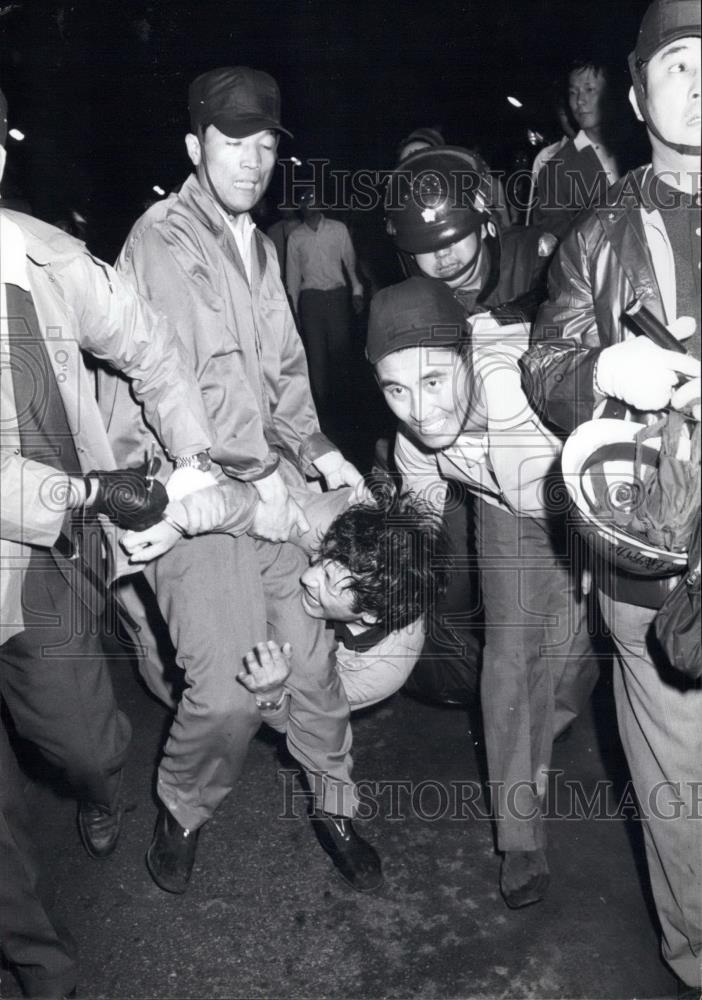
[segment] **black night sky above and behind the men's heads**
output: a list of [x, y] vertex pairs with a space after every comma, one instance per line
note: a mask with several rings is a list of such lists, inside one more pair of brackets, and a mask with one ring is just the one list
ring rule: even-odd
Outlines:
[[[6, 198], [37, 216], [77, 210], [114, 256], [154, 195], [189, 168], [187, 88], [244, 63], [278, 80], [280, 155], [339, 169], [394, 164], [413, 128], [439, 126], [508, 169], [528, 127], [559, 134], [552, 84], [595, 54], [622, 93], [647, 0], [0, 0], [0, 83], [10, 126]], [[506, 100], [516, 95], [523, 109]], [[633, 126], [632, 126], [633, 127]], [[532, 150], [533, 154], [533, 150]], [[274, 204], [280, 188], [272, 185]]]

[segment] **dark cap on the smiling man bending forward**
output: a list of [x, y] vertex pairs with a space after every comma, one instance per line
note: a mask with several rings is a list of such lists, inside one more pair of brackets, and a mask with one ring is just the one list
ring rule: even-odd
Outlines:
[[371, 300], [366, 357], [372, 365], [407, 347], [455, 347], [468, 326], [451, 289], [435, 278], [408, 278]]

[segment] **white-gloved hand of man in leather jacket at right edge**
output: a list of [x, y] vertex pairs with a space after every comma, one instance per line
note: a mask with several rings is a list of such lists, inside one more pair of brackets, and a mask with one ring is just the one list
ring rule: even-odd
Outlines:
[[606, 347], [597, 359], [595, 389], [637, 410], [662, 410], [670, 402], [680, 375], [699, 374], [689, 354], [657, 347], [647, 337], [633, 337]]

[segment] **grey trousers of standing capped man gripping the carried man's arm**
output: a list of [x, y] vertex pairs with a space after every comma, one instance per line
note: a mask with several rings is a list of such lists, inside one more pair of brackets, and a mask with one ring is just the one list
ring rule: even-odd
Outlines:
[[[261, 725], [254, 698], [236, 675], [244, 655], [266, 636], [293, 649], [286, 684], [290, 753], [305, 768], [320, 808], [355, 813], [349, 706], [329, 632], [300, 602], [307, 564], [295, 545], [209, 534], [179, 542], [147, 569], [185, 675], [157, 789], [188, 830], [207, 822], [232, 790]], [[160, 663], [146, 659], [140, 669], [158, 691]]]

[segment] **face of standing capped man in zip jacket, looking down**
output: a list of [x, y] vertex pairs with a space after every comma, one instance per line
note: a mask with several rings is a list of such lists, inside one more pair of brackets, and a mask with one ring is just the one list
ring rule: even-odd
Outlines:
[[[185, 141], [198, 178], [207, 187], [200, 140], [190, 134]], [[219, 197], [235, 214], [250, 211], [270, 183], [278, 150], [276, 133], [266, 129], [232, 139], [215, 125], [208, 125], [204, 146], [207, 169]]]

